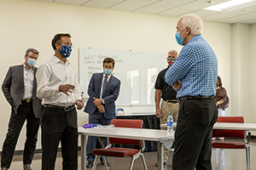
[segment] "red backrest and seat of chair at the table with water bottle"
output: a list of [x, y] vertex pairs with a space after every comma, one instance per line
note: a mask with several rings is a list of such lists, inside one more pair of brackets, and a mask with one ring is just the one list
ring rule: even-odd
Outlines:
[[[133, 120], [133, 119], [112, 119], [110, 124], [113, 124], [114, 127], [131, 127], [131, 128], [142, 128], [142, 120]], [[118, 138], [108, 138], [109, 144], [132, 144], [139, 145], [137, 139], [118, 139]]]

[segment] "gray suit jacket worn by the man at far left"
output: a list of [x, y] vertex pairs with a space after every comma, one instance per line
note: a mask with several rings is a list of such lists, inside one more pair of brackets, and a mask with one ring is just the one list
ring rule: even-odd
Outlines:
[[[33, 111], [35, 117], [39, 118], [41, 116], [42, 105], [41, 99], [37, 97], [37, 80], [36, 80], [36, 72], [38, 68], [34, 69], [34, 82], [33, 82], [33, 90], [32, 90], [32, 104]], [[5, 98], [9, 102], [17, 114], [18, 107], [20, 106], [21, 99], [24, 94], [24, 65], [15, 65], [9, 67], [9, 71], [7, 72], [3, 84], [2, 90]]]

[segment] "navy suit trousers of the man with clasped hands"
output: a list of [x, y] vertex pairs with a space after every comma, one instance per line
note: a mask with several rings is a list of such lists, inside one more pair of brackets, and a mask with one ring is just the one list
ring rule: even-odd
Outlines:
[[[105, 119], [102, 113], [100, 113], [97, 109], [93, 113], [93, 115], [89, 115], [89, 123], [92, 124], [102, 124], [102, 125], [109, 125], [112, 119]], [[102, 143], [104, 146], [108, 145], [108, 139], [102, 137]], [[86, 144], [86, 156], [87, 161], [94, 161], [95, 156], [91, 153], [92, 150], [96, 148], [101, 148], [100, 144], [98, 143], [96, 136], [88, 136], [87, 144]]]

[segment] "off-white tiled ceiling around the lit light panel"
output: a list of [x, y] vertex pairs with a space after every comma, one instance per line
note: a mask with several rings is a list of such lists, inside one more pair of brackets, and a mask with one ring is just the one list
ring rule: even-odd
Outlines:
[[256, 0], [254, 4], [239, 7], [233, 10], [218, 12], [206, 10], [209, 6], [224, 3], [230, 0], [33, 0], [53, 3], [68, 3], [95, 8], [110, 8], [146, 14], [160, 14], [180, 17], [183, 14], [197, 14], [202, 20], [226, 23], [256, 23]]

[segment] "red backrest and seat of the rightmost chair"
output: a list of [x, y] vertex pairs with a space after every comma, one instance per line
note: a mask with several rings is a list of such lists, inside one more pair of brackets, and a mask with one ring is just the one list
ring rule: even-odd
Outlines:
[[[218, 116], [217, 122], [241, 122], [243, 123], [243, 116]], [[244, 130], [225, 130], [213, 129], [212, 138], [238, 138], [245, 139]]]

